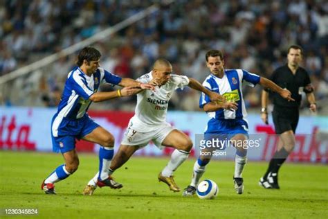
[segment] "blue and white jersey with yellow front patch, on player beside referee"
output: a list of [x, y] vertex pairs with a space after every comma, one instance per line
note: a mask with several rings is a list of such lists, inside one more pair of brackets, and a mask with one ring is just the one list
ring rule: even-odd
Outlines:
[[[216, 112], [207, 112], [211, 119], [231, 120], [243, 119], [247, 116], [242, 95], [243, 81], [249, 82], [249, 85], [254, 87], [259, 82], [259, 76], [242, 69], [225, 69], [223, 78], [218, 78], [211, 73], [206, 80], [204, 80], [204, 87], [221, 94], [228, 101], [238, 103], [238, 109], [234, 112], [227, 109], [219, 109]], [[206, 103], [210, 103], [210, 98], [202, 93], [201, 98], [199, 99], [199, 107], [203, 108]]]

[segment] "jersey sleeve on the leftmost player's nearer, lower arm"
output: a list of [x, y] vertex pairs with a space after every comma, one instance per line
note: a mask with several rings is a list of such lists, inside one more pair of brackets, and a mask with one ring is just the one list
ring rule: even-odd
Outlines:
[[89, 97], [93, 94], [93, 90], [88, 87], [85, 78], [79, 74], [74, 73], [73, 77], [69, 81], [71, 82], [71, 89], [73, 89], [79, 96], [82, 96], [84, 100], [89, 99]]

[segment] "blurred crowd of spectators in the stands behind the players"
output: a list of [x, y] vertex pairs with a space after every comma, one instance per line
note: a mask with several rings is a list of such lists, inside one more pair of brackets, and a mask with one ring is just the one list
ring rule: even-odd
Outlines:
[[[0, 1], [0, 76], [91, 37], [154, 2]], [[209, 74], [205, 61], [209, 49], [224, 52], [226, 69], [246, 69], [270, 78], [286, 63], [291, 44], [304, 49], [302, 67], [311, 76], [320, 110], [328, 99], [328, 1], [180, 0], [93, 46], [102, 52], [101, 66], [118, 76], [138, 78], [162, 57], [172, 62], [174, 73], [203, 82]], [[76, 55], [18, 79], [15, 85], [21, 86], [25, 98], [3, 96], [2, 104], [56, 106]], [[261, 90], [260, 86], [244, 89], [246, 107], [259, 107]], [[109, 100], [93, 104], [93, 109], [133, 110], [135, 100]], [[199, 92], [179, 90], [170, 109], [199, 110], [198, 100]], [[306, 102], [303, 108], [305, 112]]]

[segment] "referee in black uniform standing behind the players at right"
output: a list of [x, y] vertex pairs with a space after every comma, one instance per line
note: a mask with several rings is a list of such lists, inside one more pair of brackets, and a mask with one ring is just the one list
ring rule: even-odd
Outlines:
[[[272, 113], [273, 123], [275, 124], [275, 133], [279, 134], [280, 139], [275, 155], [273, 155], [268, 165], [268, 170], [259, 180], [259, 184], [265, 189], [280, 189], [278, 171], [295, 146], [295, 130], [298, 125], [299, 107], [303, 91], [307, 94], [309, 108], [312, 112], [316, 112], [316, 100], [313, 95], [309, 74], [299, 66], [300, 62], [302, 62], [302, 55], [302, 47], [298, 45], [290, 46], [287, 53], [288, 63], [277, 68], [271, 76], [273, 82], [291, 91], [291, 98], [295, 99], [295, 101], [289, 102], [272, 93], [274, 106]], [[266, 124], [268, 124], [267, 103], [268, 90], [264, 90], [262, 91], [261, 118]]]

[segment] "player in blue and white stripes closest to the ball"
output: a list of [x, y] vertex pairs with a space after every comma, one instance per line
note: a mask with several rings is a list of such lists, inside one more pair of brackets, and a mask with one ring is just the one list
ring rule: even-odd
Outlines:
[[[236, 148], [233, 179], [236, 192], [242, 194], [244, 191], [242, 171], [246, 164], [247, 155], [244, 143], [248, 139], [248, 123], [245, 119], [247, 112], [242, 95], [242, 83], [244, 81], [248, 82], [252, 87], [259, 84], [277, 92], [287, 100], [293, 99], [290, 91], [282, 89], [271, 80], [242, 69], [224, 69], [224, 55], [221, 51], [208, 51], [206, 53], [206, 64], [211, 74], [203, 82], [203, 86], [224, 96], [226, 102], [212, 103], [206, 94], [201, 94], [199, 107], [207, 112], [210, 117], [204, 137], [206, 140], [214, 138], [230, 139], [230, 142], [233, 143]], [[201, 149], [204, 152], [215, 151], [212, 147]], [[201, 153], [201, 156], [194, 164], [192, 182], [183, 192], [183, 196], [191, 196], [195, 193], [199, 179], [205, 172], [206, 165], [212, 155], [213, 153]]]

